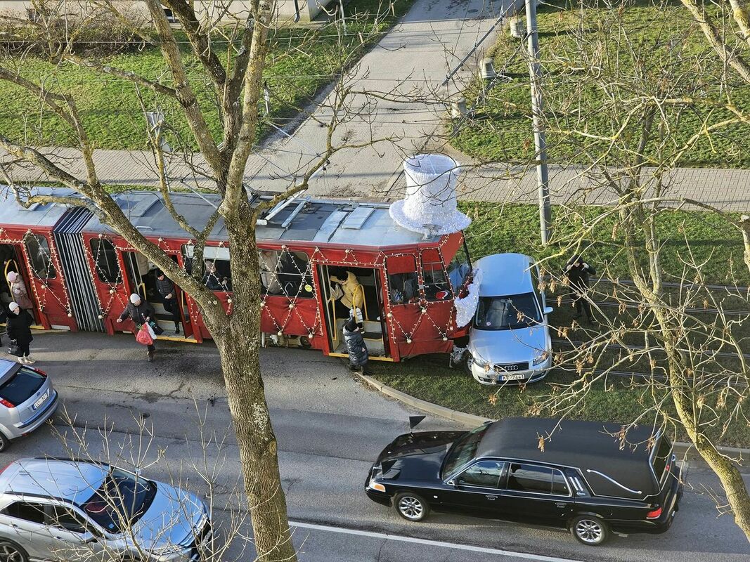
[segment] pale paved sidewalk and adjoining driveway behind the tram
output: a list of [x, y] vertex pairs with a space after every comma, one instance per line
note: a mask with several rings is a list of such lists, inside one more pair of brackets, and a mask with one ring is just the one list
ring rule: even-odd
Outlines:
[[[457, 74], [457, 82], [441, 86], [443, 79], [458, 64], [474, 43], [490, 28], [496, 16], [514, 0], [447, 2], [418, 0], [404, 19], [368, 52], [356, 68], [355, 89], [393, 96], [403, 94], [410, 101], [373, 99], [361, 94], [350, 101], [349, 121], [341, 125], [334, 142], [347, 139], [352, 144], [370, 139], [389, 139], [365, 148], [353, 148], [335, 154], [326, 170], [311, 179], [311, 196], [367, 197], [398, 199], [404, 188], [401, 163], [408, 154], [431, 149], [440, 142], [440, 126], [446, 108], [442, 104], [411, 101], [433, 94], [452, 96], [462, 79], [475, 72], [483, 52], [478, 50]], [[493, 44], [488, 37], [482, 47]], [[331, 95], [323, 96], [313, 115], [292, 134], [281, 136], [252, 155], [245, 170], [245, 181], [261, 191], [280, 191], [299, 181], [317, 153], [326, 146], [326, 127], [320, 122], [331, 115]], [[85, 171], [80, 152], [74, 148], [49, 149], [53, 161], [61, 163], [73, 175], [83, 178]], [[461, 163], [467, 159], [455, 156]], [[7, 155], [6, 155], [7, 158]], [[102, 182], [134, 186], [157, 184], [154, 157], [148, 151], [95, 152], [95, 163]], [[5, 160], [5, 158], [0, 158]], [[208, 171], [199, 154], [190, 166]], [[211, 189], [212, 182], [196, 177], [179, 157], [169, 159], [169, 177], [173, 187], [181, 182], [191, 187]], [[578, 202], [604, 204], [610, 197], [591, 190], [591, 182], [581, 177], [580, 166], [550, 166], [550, 194], [553, 203], [564, 203], [574, 196]], [[37, 169], [14, 169], [17, 181], [49, 181]], [[691, 198], [725, 211], [750, 211], [750, 170], [676, 169], [670, 177], [668, 195]], [[586, 192], [583, 197], [583, 192]], [[589, 193], [591, 192], [591, 193]], [[486, 166], [467, 170], [460, 184], [460, 198], [486, 202], [537, 202], [534, 169], [513, 166]]]

